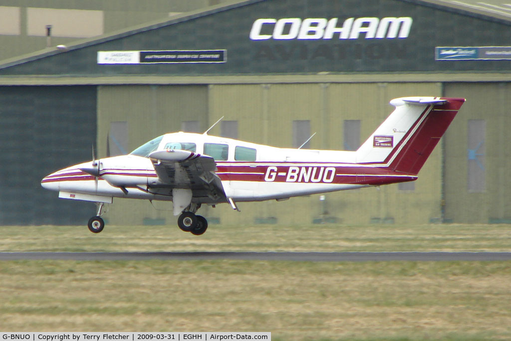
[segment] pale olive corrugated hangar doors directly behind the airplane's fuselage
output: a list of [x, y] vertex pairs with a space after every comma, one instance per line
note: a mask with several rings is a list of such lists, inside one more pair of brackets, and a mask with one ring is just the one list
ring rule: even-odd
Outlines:
[[[238, 121], [240, 140], [278, 147], [291, 147], [293, 120], [310, 120], [311, 132], [317, 132], [311, 148], [343, 149], [344, 120], [361, 120], [362, 143], [392, 111], [390, 99], [441, 94], [440, 83], [100, 86], [98, 146], [105, 156], [110, 122], [127, 122], [129, 146], [134, 149], [159, 134], [180, 130], [181, 121], [197, 120], [205, 130], [224, 116], [226, 121]], [[220, 134], [219, 126], [210, 134]], [[241, 213], [219, 205], [201, 208], [200, 214], [226, 224], [299, 224], [325, 217], [351, 224], [428, 223], [441, 216], [441, 161], [438, 146], [412, 191], [390, 185], [331, 193], [325, 201], [313, 195], [284, 202], [242, 203]], [[157, 206], [171, 209], [170, 203]], [[167, 224], [175, 221], [170, 212], [156, 211], [138, 200], [114, 200], [106, 217], [119, 224], [138, 224], [144, 218], [166, 219]]]

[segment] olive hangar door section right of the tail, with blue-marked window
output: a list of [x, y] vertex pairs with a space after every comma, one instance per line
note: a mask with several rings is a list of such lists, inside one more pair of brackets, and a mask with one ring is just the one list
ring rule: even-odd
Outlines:
[[[450, 83], [445, 95], [467, 98], [445, 139], [446, 218], [463, 223], [511, 222], [511, 84]], [[479, 129], [484, 131], [470, 145], [469, 135], [474, 132], [469, 126], [475, 120], [482, 121]]]

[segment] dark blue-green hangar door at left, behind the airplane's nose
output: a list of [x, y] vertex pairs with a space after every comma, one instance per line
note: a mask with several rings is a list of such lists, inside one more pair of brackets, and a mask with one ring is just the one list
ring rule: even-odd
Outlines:
[[95, 86], [0, 87], [0, 224], [83, 224], [94, 206], [62, 200], [42, 177], [90, 160]]

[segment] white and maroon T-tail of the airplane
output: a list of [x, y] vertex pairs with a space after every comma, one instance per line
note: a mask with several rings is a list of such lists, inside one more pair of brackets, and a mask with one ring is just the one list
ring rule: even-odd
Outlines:
[[417, 175], [446, 132], [463, 98], [403, 97], [357, 150], [357, 163]]

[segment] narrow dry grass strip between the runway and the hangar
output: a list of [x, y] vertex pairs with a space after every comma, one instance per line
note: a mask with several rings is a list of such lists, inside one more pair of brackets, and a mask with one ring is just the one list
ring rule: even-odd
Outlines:
[[511, 225], [0, 226], [0, 251], [511, 251]]

